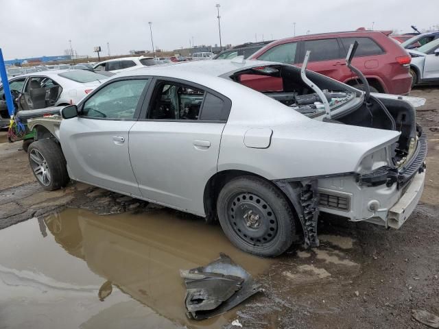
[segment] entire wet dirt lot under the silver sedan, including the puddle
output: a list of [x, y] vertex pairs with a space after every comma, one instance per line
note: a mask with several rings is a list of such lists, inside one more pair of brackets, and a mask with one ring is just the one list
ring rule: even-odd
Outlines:
[[[427, 328], [439, 315], [439, 88], [418, 122], [429, 137], [420, 204], [401, 230], [322, 218], [321, 246], [274, 260], [182, 212], [69, 184], [44, 192], [19, 144], [0, 143], [0, 328]], [[4, 134], [0, 132], [0, 135]], [[66, 209], [67, 207], [67, 209]], [[13, 225], [16, 224], [16, 225]], [[206, 321], [185, 317], [179, 269], [219, 252], [265, 291]]]

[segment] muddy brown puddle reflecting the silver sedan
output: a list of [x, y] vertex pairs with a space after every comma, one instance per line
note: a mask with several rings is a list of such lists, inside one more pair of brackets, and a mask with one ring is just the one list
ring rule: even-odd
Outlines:
[[0, 328], [220, 328], [239, 308], [187, 319], [179, 277], [219, 252], [254, 276], [271, 262], [171, 210], [30, 219], [0, 231]]

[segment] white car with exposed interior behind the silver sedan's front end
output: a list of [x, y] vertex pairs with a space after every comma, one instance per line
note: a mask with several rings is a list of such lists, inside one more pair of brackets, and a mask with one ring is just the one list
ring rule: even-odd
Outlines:
[[[108, 79], [85, 70], [51, 70], [29, 73], [9, 80], [17, 112], [76, 104]], [[0, 85], [0, 126], [10, 121], [3, 85]]]

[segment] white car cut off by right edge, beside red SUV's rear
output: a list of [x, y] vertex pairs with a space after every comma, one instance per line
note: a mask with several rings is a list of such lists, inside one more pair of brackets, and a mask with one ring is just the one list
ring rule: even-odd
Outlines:
[[413, 85], [439, 83], [439, 39], [431, 41], [418, 49], [410, 49], [412, 62], [410, 74]]

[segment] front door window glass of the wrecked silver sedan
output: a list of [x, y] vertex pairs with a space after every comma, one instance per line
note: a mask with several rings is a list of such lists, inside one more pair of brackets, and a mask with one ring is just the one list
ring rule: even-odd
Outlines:
[[82, 115], [91, 118], [134, 119], [137, 104], [150, 80], [122, 80], [98, 90], [84, 103]]

